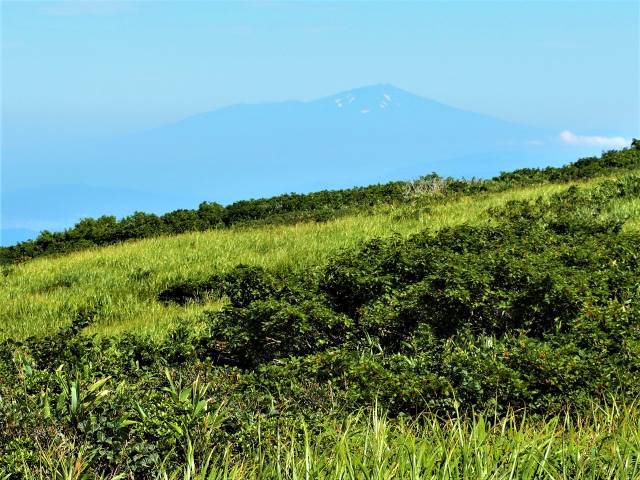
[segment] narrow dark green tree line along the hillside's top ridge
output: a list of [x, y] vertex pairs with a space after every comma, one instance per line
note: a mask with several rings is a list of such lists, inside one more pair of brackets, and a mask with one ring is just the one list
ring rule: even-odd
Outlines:
[[[397, 181], [309, 194], [290, 193], [271, 198], [242, 200], [226, 207], [218, 203], [203, 202], [197, 209], [180, 209], [164, 215], [136, 212], [121, 220], [104, 215], [95, 219], [82, 219], [74, 227], [62, 232], [45, 230], [34, 240], [2, 247], [0, 264], [160, 235], [242, 225], [326, 221], [380, 204], [404, 203], [416, 195], [442, 197], [498, 192], [518, 186], [570, 182], [637, 168], [640, 168], [640, 142], [634, 140], [631, 148], [610, 150], [600, 157], [583, 158], [560, 168], [514, 170], [501, 173], [490, 180], [460, 180], [431, 174], [415, 182]], [[416, 188], [416, 185], [424, 188]], [[408, 196], [407, 192], [411, 195]]]

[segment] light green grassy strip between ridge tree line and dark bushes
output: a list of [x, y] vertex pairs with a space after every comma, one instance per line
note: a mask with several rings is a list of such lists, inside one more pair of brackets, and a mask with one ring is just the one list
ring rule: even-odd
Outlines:
[[[36, 259], [5, 270], [0, 280], [0, 339], [52, 332], [69, 324], [82, 308], [98, 312], [92, 332], [162, 336], [171, 325], [193, 322], [204, 310], [222, 305], [217, 300], [184, 307], [158, 302], [157, 294], [173, 282], [204, 278], [239, 263], [298, 271], [321, 268], [330, 255], [367, 239], [482, 223], [489, 208], [547, 197], [568, 187], [546, 184], [461, 197], [429, 208], [385, 206], [326, 223], [195, 232]], [[618, 202], [610, 213], [631, 217], [625, 228], [640, 228], [640, 200]]]

